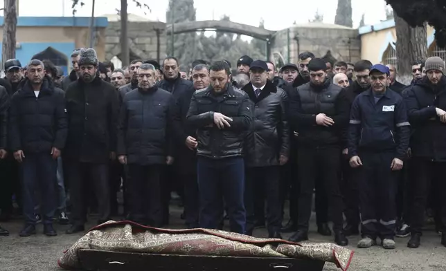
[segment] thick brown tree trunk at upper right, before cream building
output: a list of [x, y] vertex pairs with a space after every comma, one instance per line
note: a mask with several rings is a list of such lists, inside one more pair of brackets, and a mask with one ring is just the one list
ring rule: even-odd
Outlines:
[[398, 79], [403, 84], [412, 80], [411, 62], [427, 59], [426, 23], [422, 27], [411, 28], [404, 19], [395, 14], [396, 56]]

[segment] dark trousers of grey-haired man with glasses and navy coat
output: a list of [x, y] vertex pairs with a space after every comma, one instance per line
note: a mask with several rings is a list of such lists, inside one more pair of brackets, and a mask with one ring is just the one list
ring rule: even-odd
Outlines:
[[132, 184], [130, 198], [130, 220], [152, 227], [161, 227], [162, 165], [129, 165]]

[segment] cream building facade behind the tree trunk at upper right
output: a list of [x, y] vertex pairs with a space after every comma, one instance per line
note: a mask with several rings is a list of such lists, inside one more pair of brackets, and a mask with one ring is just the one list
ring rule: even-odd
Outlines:
[[[359, 28], [361, 37], [361, 58], [372, 63], [396, 65], [396, 31], [393, 19], [382, 21], [373, 26]], [[427, 26], [427, 50], [430, 56], [439, 56], [446, 59], [446, 51], [436, 46], [435, 30]]]

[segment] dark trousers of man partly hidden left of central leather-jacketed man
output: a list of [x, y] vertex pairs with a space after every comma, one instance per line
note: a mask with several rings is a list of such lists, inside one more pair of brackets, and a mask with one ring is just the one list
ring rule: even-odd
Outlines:
[[181, 174], [184, 183], [184, 218], [189, 228], [199, 227], [199, 194], [197, 174]]

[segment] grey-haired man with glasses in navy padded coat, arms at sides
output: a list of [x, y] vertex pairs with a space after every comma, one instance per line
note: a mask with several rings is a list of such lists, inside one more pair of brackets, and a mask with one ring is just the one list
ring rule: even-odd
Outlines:
[[124, 97], [118, 128], [118, 160], [128, 165], [130, 219], [142, 225], [161, 227], [161, 176], [163, 165], [173, 163], [172, 129], [175, 101], [156, 85], [157, 71], [151, 64], [138, 69], [138, 88]]

